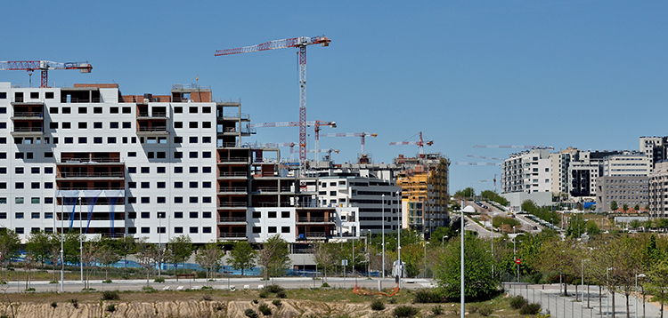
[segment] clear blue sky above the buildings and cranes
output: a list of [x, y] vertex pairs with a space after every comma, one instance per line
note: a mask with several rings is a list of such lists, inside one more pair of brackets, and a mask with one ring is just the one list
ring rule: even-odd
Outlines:
[[[307, 117], [338, 122], [323, 132], [378, 133], [366, 146], [376, 163], [415, 155], [388, 143], [419, 131], [452, 162], [511, 153], [477, 144], [637, 149], [639, 136], [668, 134], [665, 1], [10, 1], [3, 12], [0, 60], [94, 67], [53, 71], [52, 83], [167, 94], [199, 76], [216, 97], [241, 99], [254, 123], [297, 121], [297, 50], [214, 52], [329, 36], [330, 47], [307, 49]], [[4, 71], [0, 81], [28, 76]], [[297, 128], [246, 141], [297, 141]], [[356, 138], [321, 139], [327, 147], [341, 149], [339, 163], [360, 152]], [[501, 173], [451, 171], [453, 190], [491, 188], [479, 180]]]

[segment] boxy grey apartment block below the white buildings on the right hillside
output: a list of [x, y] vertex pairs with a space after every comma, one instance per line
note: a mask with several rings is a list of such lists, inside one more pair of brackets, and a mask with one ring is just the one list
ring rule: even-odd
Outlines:
[[602, 211], [611, 211], [610, 203], [615, 201], [619, 208], [626, 204], [632, 209], [636, 204], [640, 209], [648, 206], [649, 178], [647, 175], [604, 176], [597, 180], [596, 207]]

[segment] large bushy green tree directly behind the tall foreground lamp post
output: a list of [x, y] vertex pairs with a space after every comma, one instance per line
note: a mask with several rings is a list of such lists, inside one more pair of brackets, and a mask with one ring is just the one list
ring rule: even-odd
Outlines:
[[[476, 235], [464, 238], [464, 295], [472, 301], [492, 298], [499, 289], [500, 280], [492, 274], [493, 259], [487, 243]], [[460, 247], [460, 239], [452, 240], [435, 268], [436, 282], [450, 299], [460, 298]]]

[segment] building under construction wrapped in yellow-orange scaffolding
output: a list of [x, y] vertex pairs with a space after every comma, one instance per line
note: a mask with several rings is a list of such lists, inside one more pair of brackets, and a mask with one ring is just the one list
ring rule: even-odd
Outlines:
[[396, 179], [396, 185], [402, 187], [403, 227], [416, 229], [426, 236], [436, 227], [444, 227], [450, 199], [450, 160], [441, 154], [411, 158], [399, 155], [395, 165], [403, 167]]

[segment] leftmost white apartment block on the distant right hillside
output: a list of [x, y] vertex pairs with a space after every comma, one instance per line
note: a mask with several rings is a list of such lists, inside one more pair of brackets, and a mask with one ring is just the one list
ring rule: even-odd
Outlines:
[[548, 149], [537, 148], [510, 155], [503, 162], [501, 193], [550, 192], [551, 166]]

